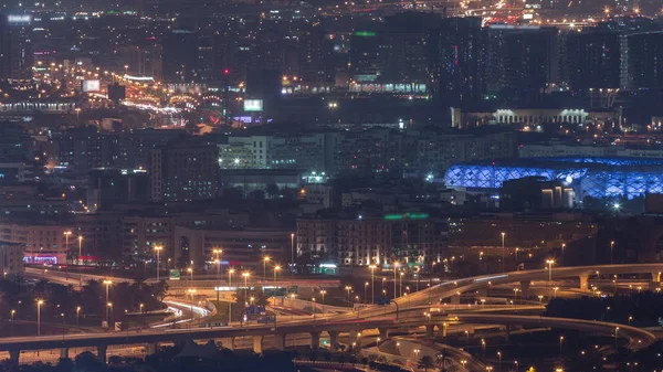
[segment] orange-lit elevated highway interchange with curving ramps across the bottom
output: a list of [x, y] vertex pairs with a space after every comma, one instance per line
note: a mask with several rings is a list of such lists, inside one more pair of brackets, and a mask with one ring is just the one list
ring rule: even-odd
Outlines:
[[[107, 333], [82, 333], [64, 336], [42, 336], [42, 337], [21, 337], [0, 339], [0, 351], [24, 351], [21, 354], [22, 362], [30, 362], [29, 350], [66, 350], [73, 348], [93, 348], [103, 346], [104, 350], [108, 348], [109, 354], [143, 354], [147, 350], [145, 344], [156, 344], [180, 342], [185, 340], [224, 340], [224, 344], [232, 342], [234, 347], [250, 344], [255, 351], [261, 352], [264, 343], [271, 343], [273, 347], [285, 348], [308, 344], [319, 346], [320, 333], [325, 337], [334, 338], [334, 342], [341, 343], [341, 340], [349, 342], [355, 334], [364, 333], [365, 338], [383, 337], [388, 338], [388, 332], [400, 331], [409, 327], [410, 333], [431, 336], [432, 332], [463, 332], [473, 330], [472, 325], [493, 325], [498, 327], [533, 327], [533, 328], [558, 328], [575, 329], [606, 337], [624, 339], [627, 346], [632, 350], [639, 350], [656, 341], [656, 336], [635, 327], [617, 325], [600, 321], [586, 321], [576, 319], [547, 318], [540, 316], [526, 316], [524, 313], [540, 311], [539, 305], [520, 305], [519, 308], [509, 305], [471, 305], [462, 304], [461, 296], [466, 297], [488, 297], [487, 291], [491, 288], [499, 286], [516, 286], [522, 288], [523, 293], [530, 290], [551, 290], [552, 285], [565, 284], [562, 290], [588, 290], [588, 280], [598, 279], [600, 275], [627, 275], [627, 274], [649, 274], [652, 276], [652, 283], [660, 280], [660, 270], [663, 266], [660, 264], [639, 264], [639, 265], [601, 265], [601, 266], [579, 266], [579, 267], [555, 267], [552, 269], [512, 272], [504, 274], [483, 275], [477, 277], [442, 281], [430, 288], [409, 294], [392, 300], [389, 306], [369, 306], [358, 311], [329, 311], [320, 313], [313, 319], [311, 316], [298, 317], [278, 317], [275, 325], [244, 325], [238, 327], [217, 327], [217, 328], [196, 328], [192, 329], [168, 329], [166, 327], [149, 330], [129, 331], [129, 332], [107, 332]], [[31, 275], [48, 277], [50, 280], [72, 284], [72, 278], [63, 278], [62, 273], [49, 275], [49, 272], [32, 269]], [[598, 273], [598, 274], [597, 274]], [[99, 279], [93, 275], [86, 275], [87, 279]], [[575, 279], [578, 281], [559, 281], [560, 279]], [[75, 278], [77, 281], [77, 278]], [[122, 280], [122, 279], [116, 279]], [[572, 288], [572, 287], [576, 288]], [[582, 287], [582, 288], [581, 288]], [[556, 290], [557, 293], [557, 290]], [[475, 300], [476, 302], [476, 300]], [[169, 304], [185, 308], [186, 304]], [[514, 311], [517, 311], [514, 315]], [[427, 316], [428, 313], [428, 316]], [[204, 312], [197, 317], [204, 317]], [[186, 317], [185, 317], [186, 318]], [[179, 321], [186, 322], [187, 319]], [[423, 331], [422, 331], [423, 330]], [[308, 333], [308, 334], [307, 334]], [[276, 336], [273, 336], [276, 334]], [[347, 334], [347, 336], [345, 336]], [[407, 336], [407, 334], [406, 334]], [[253, 339], [251, 342], [251, 338]], [[281, 341], [278, 341], [281, 339]], [[257, 341], [256, 341], [257, 340]], [[368, 342], [368, 338], [365, 343]], [[256, 343], [257, 342], [257, 343]], [[285, 342], [285, 344], [284, 344]], [[288, 343], [290, 342], [290, 343]], [[317, 342], [315, 344], [314, 342]], [[330, 342], [333, 343], [333, 342]], [[370, 346], [370, 342], [367, 343]], [[98, 349], [98, 348], [97, 348]], [[83, 350], [83, 349], [80, 349]], [[43, 352], [42, 352], [43, 354]], [[48, 355], [57, 354], [52, 351]], [[456, 361], [460, 362], [460, 361]]]

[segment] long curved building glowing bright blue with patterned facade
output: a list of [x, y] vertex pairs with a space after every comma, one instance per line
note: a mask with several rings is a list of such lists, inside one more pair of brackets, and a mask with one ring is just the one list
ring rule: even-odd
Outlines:
[[497, 190], [507, 180], [540, 177], [561, 180], [577, 199], [643, 196], [663, 193], [663, 159], [635, 158], [525, 158], [456, 164], [449, 168], [449, 188]]

